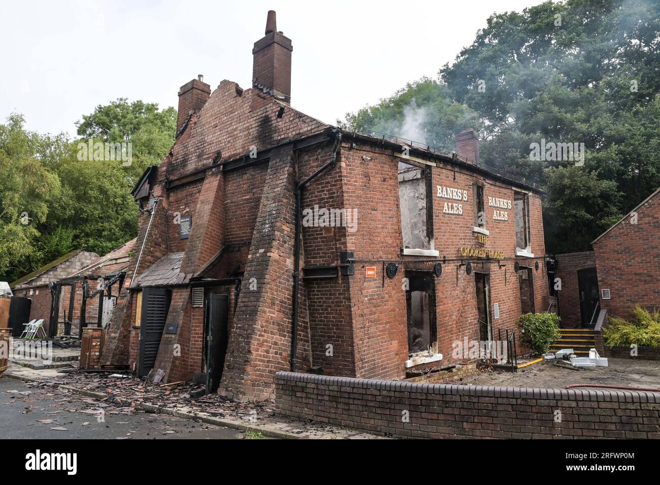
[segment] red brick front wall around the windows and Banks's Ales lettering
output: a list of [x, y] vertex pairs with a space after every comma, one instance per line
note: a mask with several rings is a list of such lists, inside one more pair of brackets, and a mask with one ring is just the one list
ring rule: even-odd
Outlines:
[[[343, 147], [341, 157], [345, 177], [345, 207], [358, 209], [358, 230], [347, 233], [348, 249], [355, 251], [358, 260], [424, 259], [400, 255], [402, 236], [397, 179], [400, 159], [393, 156], [392, 150], [347, 145]], [[462, 341], [465, 337], [468, 340], [479, 340], [475, 273], [490, 273], [491, 302], [500, 304], [500, 318], [493, 320], [495, 330], [502, 329], [504, 335], [506, 329], [516, 328], [515, 320], [521, 313], [521, 304], [519, 280], [513, 271], [513, 209], [508, 210], [508, 220], [502, 222], [493, 220], [493, 208], [488, 207], [488, 197], [513, 201], [513, 189], [501, 181], [442, 162], [431, 171], [435, 248], [439, 251], [440, 258], [446, 256], [448, 260], [442, 276], [436, 278], [438, 350], [444, 356], [442, 365], [447, 365], [454, 362], [451, 353], [455, 340]], [[485, 228], [490, 232], [490, 240], [485, 245], [477, 242], [477, 235], [472, 231], [473, 182], [485, 186]], [[462, 202], [462, 215], [443, 212], [446, 199], [437, 197], [435, 191], [438, 185], [468, 191], [468, 200]], [[543, 259], [543, 220], [541, 199], [536, 193], [529, 194], [529, 212], [531, 250], [536, 257], [519, 257], [518, 260], [521, 266], [528, 265], [532, 268], [536, 311], [546, 311], [548, 284]], [[474, 273], [466, 275], [465, 267], [457, 269], [460, 263], [458, 260], [462, 259], [459, 247], [463, 245], [504, 251], [506, 261], [503, 260], [502, 265], [506, 267], [500, 268], [497, 263], [473, 262]], [[538, 270], [535, 269], [537, 261]], [[409, 268], [430, 271], [432, 264], [410, 263]], [[366, 266], [376, 267], [376, 278], [366, 278]], [[356, 275], [349, 278], [358, 377], [393, 378], [405, 375], [404, 363], [407, 360], [408, 344], [405, 291], [402, 287], [404, 276], [405, 267], [401, 265], [395, 278], [390, 280], [385, 277], [383, 286], [381, 264], [360, 263], [356, 264]], [[312, 320], [312, 328], [314, 326]], [[523, 349], [519, 347], [519, 352], [521, 350]]]

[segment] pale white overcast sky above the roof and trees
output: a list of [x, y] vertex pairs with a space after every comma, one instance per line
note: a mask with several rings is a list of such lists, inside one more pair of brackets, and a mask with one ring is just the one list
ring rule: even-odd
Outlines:
[[0, 7], [0, 122], [68, 131], [119, 97], [178, 104], [198, 74], [251, 87], [266, 14], [293, 42], [292, 106], [327, 123], [453, 61], [494, 11], [541, 0], [18, 1]]

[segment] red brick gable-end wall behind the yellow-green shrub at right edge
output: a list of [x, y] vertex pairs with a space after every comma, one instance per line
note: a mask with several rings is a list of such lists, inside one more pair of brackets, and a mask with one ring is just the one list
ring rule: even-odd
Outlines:
[[[630, 214], [593, 244], [598, 268], [601, 307], [610, 315], [629, 317], [632, 307], [660, 306], [660, 193]], [[609, 288], [611, 299], [603, 300]]]

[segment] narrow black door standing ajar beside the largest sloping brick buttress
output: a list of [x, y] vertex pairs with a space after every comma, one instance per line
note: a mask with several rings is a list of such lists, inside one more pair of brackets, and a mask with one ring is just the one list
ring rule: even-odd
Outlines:
[[220, 385], [224, 356], [227, 352], [227, 317], [229, 297], [209, 294], [207, 311], [207, 392], [215, 393]]

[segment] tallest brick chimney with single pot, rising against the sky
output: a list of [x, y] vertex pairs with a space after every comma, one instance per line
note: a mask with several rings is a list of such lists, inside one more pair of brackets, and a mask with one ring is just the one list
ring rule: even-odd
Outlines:
[[291, 40], [277, 32], [275, 11], [268, 11], [266, 35], [252, 49], [252, 85], [279, 98], [291, 100]]

